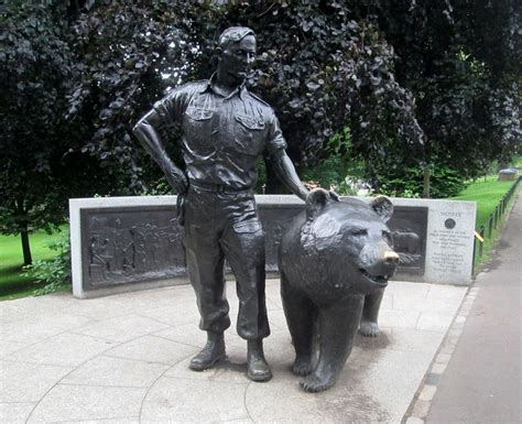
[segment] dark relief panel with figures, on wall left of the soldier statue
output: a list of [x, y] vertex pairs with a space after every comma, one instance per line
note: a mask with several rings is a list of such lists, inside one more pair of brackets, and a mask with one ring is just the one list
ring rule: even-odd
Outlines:
[[185, 275], [175, 206], [84, 209], [85, 290]]

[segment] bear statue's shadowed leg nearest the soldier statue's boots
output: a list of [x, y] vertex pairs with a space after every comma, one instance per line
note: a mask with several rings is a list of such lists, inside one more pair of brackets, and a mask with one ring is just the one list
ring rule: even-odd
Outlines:
[[297, 376], [312, 372], [315, 305], [301, 291], [293, 289], [281, 275], [281, 297], [284, 315], [295, 349], [292, 371]]

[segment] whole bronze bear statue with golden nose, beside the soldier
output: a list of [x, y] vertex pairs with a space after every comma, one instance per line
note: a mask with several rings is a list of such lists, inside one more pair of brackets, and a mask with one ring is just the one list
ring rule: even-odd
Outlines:
[[281, 240], [281, 296], [295, 349], [292, 370], [304, 376], [301, 387], [307, 392], [334, 385], [359, 326], [366, 336], [379, 331], [380, 303], [399, 262], [385, 225], [392, 214], [388, 197], [370, 204], [339, 200], [317, 188]]

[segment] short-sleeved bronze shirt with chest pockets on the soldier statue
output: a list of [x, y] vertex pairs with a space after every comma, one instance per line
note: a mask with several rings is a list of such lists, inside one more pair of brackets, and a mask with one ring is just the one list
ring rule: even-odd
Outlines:
[[189, 180], [253, 187], [258, 160], [286, 149], [286, 142], [269, 105], [244, 86], [224, 97], [213, 89], [214, 77], [173, 89], [154, 110], [164, 126], [181, 126]]

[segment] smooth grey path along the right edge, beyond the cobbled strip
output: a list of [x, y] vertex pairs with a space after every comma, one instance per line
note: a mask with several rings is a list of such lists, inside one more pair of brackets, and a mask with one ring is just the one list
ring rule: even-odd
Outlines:
[[428, 424], [522, 423], [522, 194], [437, 385]]

